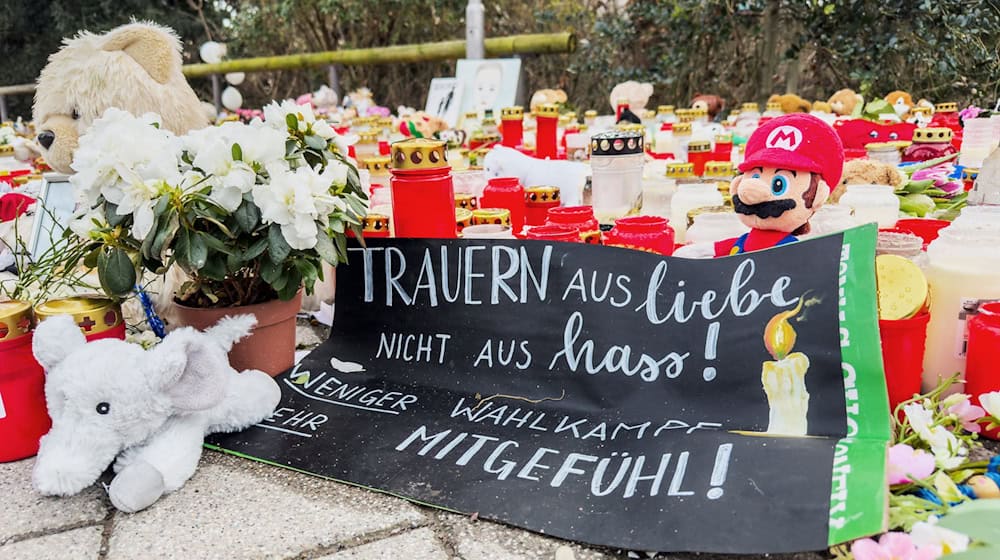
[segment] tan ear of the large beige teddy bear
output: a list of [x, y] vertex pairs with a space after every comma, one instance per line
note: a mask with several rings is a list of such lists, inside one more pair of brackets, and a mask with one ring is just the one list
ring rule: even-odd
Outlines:
[[108, 33], [104, 50], [124, 52], [161, 84], [180, 71], [180, 45], [165, 28], [142, 23], [124, 25]]

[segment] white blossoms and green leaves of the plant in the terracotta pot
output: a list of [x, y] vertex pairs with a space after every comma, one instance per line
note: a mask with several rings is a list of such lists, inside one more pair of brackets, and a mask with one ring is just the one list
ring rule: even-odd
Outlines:
[[272, 103], [264, 120], [177, 136], [149, 113], [109, 109], [80, 138], [70, 224], [111, 296], [143, 270], [179, 266], [193, 307], [288, 300], [346, 260], [366, 197], [347, 147], [309, 106]]

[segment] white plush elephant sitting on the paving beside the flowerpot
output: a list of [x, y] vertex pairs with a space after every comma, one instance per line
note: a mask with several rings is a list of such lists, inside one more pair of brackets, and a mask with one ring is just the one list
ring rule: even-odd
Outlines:
[[244, 429], [278, 405], [270, 376], [229, 365], [229, 349], [255, 323], [241, 315], [205, 332], [177, 329], [144, 350], [117, 339], [88, 343], [69, 316], [43, 321], [33, 350], [46, 370], [52, 429], [41, 440], [35, 488], [76, 494], [114, 461], [108, 494], [131, 513], [183, 486], [205, 435]]

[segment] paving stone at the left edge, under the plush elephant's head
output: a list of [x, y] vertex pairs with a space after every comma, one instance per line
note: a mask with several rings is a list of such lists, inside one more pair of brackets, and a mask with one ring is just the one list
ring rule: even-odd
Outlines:
[[31, 486], [34, 459], [0, 463], [0, 544], [15, 537], [100, 523], [108, 512], [104, 491], [92, 486], [69, 498], [45, 497]]

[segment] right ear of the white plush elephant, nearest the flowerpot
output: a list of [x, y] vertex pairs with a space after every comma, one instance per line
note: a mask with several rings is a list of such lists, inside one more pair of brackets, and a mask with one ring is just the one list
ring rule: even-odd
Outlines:
[[226, 396], [232, 367], [225, 353], [201, 332], [176, 330], [149, 351], [149, 382], [180, 412], [212, 408]]

